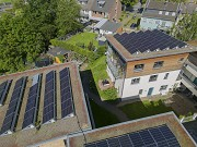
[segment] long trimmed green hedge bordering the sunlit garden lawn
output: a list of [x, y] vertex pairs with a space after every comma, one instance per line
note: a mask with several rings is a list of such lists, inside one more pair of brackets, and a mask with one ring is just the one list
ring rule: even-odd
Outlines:
[[90, 62], [92, 62], [93, 60], [96, 59], [96, 54], [93, 52], [93, 51], [90, 51], [90, 50], [85, 50], [85, 49], [82, 49], [78, 46], [74, 46], [74, 45], [71, 45], [71, 44], [68, 44], [66, 41], [62, 41], [62, 40], [57, 40], [57, 39], [51, 39], [50, 40], [50, 44], [53, 46], [56, 46], [56, 47], [61, 47], [61, 48], [65, 48], [67, 50], [71, 50], [71, 51], [74, 51], [81, 56], [84, 56], [88, 58], [88, 60]]

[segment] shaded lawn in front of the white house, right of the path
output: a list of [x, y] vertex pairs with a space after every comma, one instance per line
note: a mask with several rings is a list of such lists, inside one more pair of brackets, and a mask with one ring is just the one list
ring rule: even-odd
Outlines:
[[120, 109], [131, 120], [160, 114], [169, 111], [173, 111], [171, 107], [165, 107], [162, 100], [159, 101], [138, 101], [120, 107]]

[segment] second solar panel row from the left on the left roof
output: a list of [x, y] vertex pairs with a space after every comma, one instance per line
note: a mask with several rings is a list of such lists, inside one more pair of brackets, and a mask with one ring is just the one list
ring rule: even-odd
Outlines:
[[16, 123], [16, 118], [22, 101], [23, 91], [25, 88], [26, 77], [21, 77], [16, 81], [12, 97], [7, 110], [7, 114], [1, 127], [1, 134], [12, 133]]

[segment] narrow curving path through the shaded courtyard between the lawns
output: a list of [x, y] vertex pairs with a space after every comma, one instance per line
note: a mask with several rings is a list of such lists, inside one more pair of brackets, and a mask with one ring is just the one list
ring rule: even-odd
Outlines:
[[81, 76], [82, 76], [82, 85], [83, 85], [84, 94], [88, 95], [88, 97], [90, 99], [92, 99], [100, 107], [103, 107], [104, 109], [106, 109], [111, 113], [115, 114], [117, 117], [117, 119], [119, 120], [119, 122], [129, 121], [127, 115], [121, 110], [119, 110], [115, 105], [108, 103], [106, 101], [102, 101], [101, 97], [99, 95], [91, 91], [91, 89], [90, 89], [90, 76], [89, 75], [81, 74]]

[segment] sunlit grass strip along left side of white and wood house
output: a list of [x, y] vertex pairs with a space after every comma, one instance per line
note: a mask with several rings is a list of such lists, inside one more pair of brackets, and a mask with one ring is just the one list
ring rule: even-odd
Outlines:
[[[115, 88], [109, 88], [106, 90], [100, 90], [99, 88], [99, 81], [108, 78], [107, 72], [106, 72], [106, 57], [103, 56], [99, 58], [96, 61], [94, 61], [93, 64], [91, 64], [90, 70], [93, 74], [93, 81], [91, 81], [91, 88], [92, 90], [99, 90], [100, 96], [105, 100], [113, 100], [117, 98], [117, 91]], [[94, 86], [94, 83], [96, 84], [96, 87]], [[96, 89], [95, 89], [96, 88]]]

